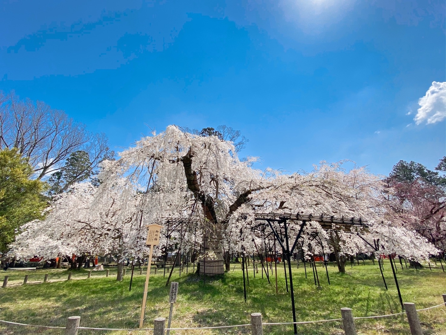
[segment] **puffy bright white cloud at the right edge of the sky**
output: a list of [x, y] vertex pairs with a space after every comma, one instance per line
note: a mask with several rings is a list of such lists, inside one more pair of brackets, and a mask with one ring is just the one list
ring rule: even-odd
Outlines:
[[426, 124], [436, 123], [446, 118], [446, 82], [434, 81], [427, 90], [426, 95], [418, 100], [417, 115], [414, 121], [417, 125], [426, 121]]

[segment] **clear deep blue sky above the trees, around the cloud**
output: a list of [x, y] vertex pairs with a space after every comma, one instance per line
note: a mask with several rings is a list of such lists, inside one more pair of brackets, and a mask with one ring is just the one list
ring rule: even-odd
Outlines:
[[260, 168], [446, 153], [445, 0], [0, 1], [0, 89], [116, 151], [148, 126], [225, 124]]

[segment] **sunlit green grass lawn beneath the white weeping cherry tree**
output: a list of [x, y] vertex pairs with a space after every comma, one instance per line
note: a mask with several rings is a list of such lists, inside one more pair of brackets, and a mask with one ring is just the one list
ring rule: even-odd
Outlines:
[[[438, 305], [446, 293], [446, 275], [441, 268], [401, 269], [397, 272], [404, 302], [414, 302], [417, 309]], [[438, 264], [439, 265], [439, 264]], [[297, 321], [311, 321], [340, 318], [340, 308], [350, 307], [355, 317], [372, 316], [401, 312], [401, 306], [393, 280], [389, 261], [384, 262], [384, 276], [388, 290], [384, 288], [378, 265], [371, 261], [351, 268], [340, 274], [337, 267], [329, 266], [328, 285], [325, 268], [318, 264], [321, 290], [314, 285], [313, 272], [307, 265], [308, 278], [302, 264], [297, 269], [293, 263], [293, 282], [296, 300]], [[232, 269], [235, 267], [235, 270]], [[232, 264], [231, 271], [219, 279], [196, 277], [193, 274], [178, 276], [178, 268], [173, 272], [172, 281], [179, 282], [178, 300], [174, 305], [172, 327], [207, 327], [245, 324], [250, 322], [250, 314], [262, 313], [263, 322], [291, 322], [290, 295], [285, 289], [285, 276], [282, 264], [278, 264], [278, 287], [270, 273], [271, 284], [266, 276], [262, 279], [261, 266], [253, 278], [249, 267], [247, 302], [244, 302], [243, 277], [240, 264]], [[274, 265], [273, 265], [274, 270]], [[43, 283], [45, 273], [49, 273], [48, 283]], [[144, 275], [135, 270], [132, 291], [129, 292], [130, 268], [121, 282], [116, 281], [116, 270], [110, 276], [104, 272], [92, 272], [87, 279], [87, 271], [74, 271], [74, 280], [66, 281], [66, 270], [8, 270], [8, 287], [0, 289], [0, 319], [34, 325], [65, 327], [66, 319], [80, 315], [83, 327], [137, 328], [145, 281]], [[25, 274], [28, 284], [22, 285]], [[0, 278], [2, 279], [2, 278]], [[150, 276], [149, 295], [146, 309], [146, 327], [153, 327], [156, 317], [168, 318], [169, 287], [162, 271]], [[444, 306], [419, 312], [425, 335], [446, 335], [446, 308]], [[390, 318], [356, 320], [358, 334], [410, 334], [405, 315]], [[343, 334], [342, 323], [324, 322], [298, 325], [298, 334], [326, 335]], [[224, 330], [171, 331], [170, 334], [247, 334], [249, 327]], [[0, 334], [63, 334], [63, 330], [25, 328], [0, 323]], [[91, 331], [79, 330], [84, 334], [152, 334], [151, 331]], [[292, 325], [264, 326], [264, 334], [293, 334]]]

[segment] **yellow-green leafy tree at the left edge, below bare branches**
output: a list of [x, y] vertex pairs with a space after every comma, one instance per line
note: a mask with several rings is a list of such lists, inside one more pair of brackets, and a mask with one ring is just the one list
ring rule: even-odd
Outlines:
[[43, 218], [45, 183], [32, 180], [34, 169], [16, 148], [0, 151], [0, 250], [8, 250], [20, 227]]

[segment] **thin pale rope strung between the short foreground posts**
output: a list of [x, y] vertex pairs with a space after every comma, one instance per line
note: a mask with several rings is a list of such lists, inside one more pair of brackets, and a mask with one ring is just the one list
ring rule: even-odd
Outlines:
[[[440, 306], [445, 306], [446, 303], [443, 302], [441, 304], [438, 304], [437, 306], [432, 307], [426, 307], [422, 308], [420, 310], [417, 310], [417, 312], [421, 312], [423, 310], [430, 310], [431, 308], [436, 308]], [[401, 315], [405, 314], [405, 312], [401, 313], [394, 313], [394, 314], [386, 314], [386, 315], [376, 315], [376, 316], [360, 316], [354, 318], [355, 320], [358, 319], [370, 319], [370, 318], [385, 318], [388, 316], [395, 316], [395, 315]], [[264, 322], [262, 325], [264, 326], [274, 326], [274, 325], [293, 325], [293, 324], [305, 324], [305, 323], [318, 323], [318, 322], [332, 322], [332, 321], [341, 321], [342, 318], [337, 319], [328, 319], [328, 320], [316, 320], [316, 321], [299, 321], [299, 322]], [[11, 321], [5, 321], [0, 320], [0, 322], [7, 323], [10, 325], [16, 325], [16, 326], [26, 326], [26, 327], [40, 327], [40, 328], [58, 328], [58, 329], [65, 329], [66, 327], [55, 327], [55, 326], [38, 326], [38, 325], [29, 325], [26, 323], [18, 323], [18, 322], [11, 322]], [[251, 323], [245, 323], [243, 325], [233, 325], [233, 326], [214, 326], [214, 327], [188, 327], [188, 328], [165, 328], [165, 330], [170, 331], [182, 331], [182, 330], [193, 330], [193, 329], [221, 329], [221, 328], [234, 328], [234, 327], [248, 327], [251, 326]], [[90, 330], [96, 330], [96, 331], [153, 331], [153, 328], [95, 328], [95, 327], [78, 327], [78, 329], [90, 329]]]

